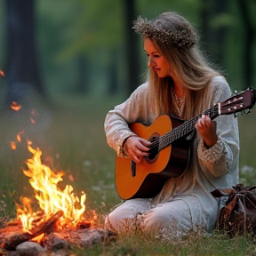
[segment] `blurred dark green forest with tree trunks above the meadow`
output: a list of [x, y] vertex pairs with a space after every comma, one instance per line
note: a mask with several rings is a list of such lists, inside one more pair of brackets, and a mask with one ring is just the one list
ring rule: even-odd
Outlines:
[[7, 91], [23, 83], [45, 97], [127, 96], [146, 70], [132, 20], [168, 10], [195, 24], [204, 51], [232, 89], [255, 84], [254, 0], [1, 0], [0, 10], [1, 88]]

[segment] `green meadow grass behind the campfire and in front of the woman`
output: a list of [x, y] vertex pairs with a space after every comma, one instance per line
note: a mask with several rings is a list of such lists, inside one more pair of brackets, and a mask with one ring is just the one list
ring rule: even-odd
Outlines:
[[[115, 152], [109, 148], [103, 130], [108, 109], [121, 102], [121, 97], [82, 97], [59, 95], [54, 101], [36, 101], [36, 112], [23, 109], [13, 112], [0, 108], [0, 217], [16, 216], [15, 203], [20, 196], [33, 197], [25, 161], [31, 157], [27, 139], [32, 147], [43, 152], [42, 161], [55, 171], [65, 172], [60, 187], [70, 184], [79, 196], [84, 191], [86, 209], [98, 214], [98, 225], [103, 227], [105, 215], [121, 202], [115, 188]], [[240, 129], [240, 181], [256, 184], [256, 109], [252, 114], [238, 116]], [[35, 114], [36, 113], [36, 114]], [[30, 117], [36, 121], [32, 124]], [[21, 135], [21, 142], [16, 135]], [[10, 141], [17, 149], [12, 150]], [[243, 172], [242, 172], [243, 170]], [[230, 239], [221, 234], [206, 237], [192, 234], [182, 241], [164, 243], [146, 237], [119, 237], [116, 243], [98, 244], [91, 249], [76, 250], [76, 255], [255, 255], [252, 237]], [[74, 251], [75, 253], [75, 251]]]

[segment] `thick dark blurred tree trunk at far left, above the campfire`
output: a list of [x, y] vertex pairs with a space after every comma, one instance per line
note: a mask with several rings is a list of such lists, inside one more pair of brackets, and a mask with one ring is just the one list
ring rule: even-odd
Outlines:
[[44, 95], [39, 74], [35, 38], [35, 0], [5, 1], [6, 35], [6, 103], [22, 100], [36, 89]]

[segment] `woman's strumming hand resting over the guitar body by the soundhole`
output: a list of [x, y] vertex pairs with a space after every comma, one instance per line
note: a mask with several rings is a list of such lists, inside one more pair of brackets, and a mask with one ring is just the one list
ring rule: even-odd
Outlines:
[[143, 156], [148, 156], [151, 143], [137, 136], [131, 136], [124, 142], [124, 153], [136, 164], [142, 164]]

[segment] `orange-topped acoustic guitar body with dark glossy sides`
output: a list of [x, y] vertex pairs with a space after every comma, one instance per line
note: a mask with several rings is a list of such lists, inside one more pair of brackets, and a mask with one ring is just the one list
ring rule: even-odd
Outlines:
[[[173, 116], [163, 115], [159, 116], [150, 126], [134, 123], [130, 128], [140, 138], [152, 142], [183, 122]], [[116, 156], [118, 195], [124, 200], [156, 196], [164, 187], [166, 180], [180, 177], [186, 171], [191, 141], [186, 137], [180, 138], [161, 151], [144, 157], [142, 164], [135, 164], [131, 158]], [[135, 175], [132, 175], [132, 168], [134, 168]]]

